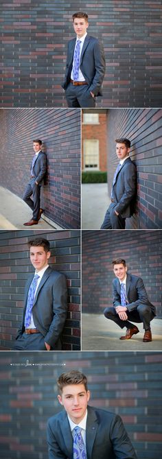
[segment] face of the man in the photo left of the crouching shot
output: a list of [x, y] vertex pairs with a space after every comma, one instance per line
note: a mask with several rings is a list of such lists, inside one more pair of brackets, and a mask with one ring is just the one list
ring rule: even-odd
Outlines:
[[36, 269], [36, 272], [43, 270], [43, 268], [47, 266], [50, 255], [51, 253], [45, 252], [45, 249], [42, 246], [30, 247], [30, 261]]

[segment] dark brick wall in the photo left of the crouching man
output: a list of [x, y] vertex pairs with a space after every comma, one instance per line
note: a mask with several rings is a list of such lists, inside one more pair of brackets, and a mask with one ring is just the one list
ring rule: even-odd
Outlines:
[[45, 237], [51, 246], [49, 264], [67, 277], [68, 315], [63, 349], [80, 349], [80, 231], [0, 231], [0, 349], [12, 349], [23, 314], [25, 281], [34, 268], [27, 240]]

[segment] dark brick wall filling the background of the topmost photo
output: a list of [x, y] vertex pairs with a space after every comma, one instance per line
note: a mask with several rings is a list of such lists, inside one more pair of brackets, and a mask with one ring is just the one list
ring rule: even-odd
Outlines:
[[161, 107], [161, 0], [2, 3], [1, 106], [66, 106], [65, 74], [73, 12], [89, 14], [89, 34], [106, 55], [98, 106]]

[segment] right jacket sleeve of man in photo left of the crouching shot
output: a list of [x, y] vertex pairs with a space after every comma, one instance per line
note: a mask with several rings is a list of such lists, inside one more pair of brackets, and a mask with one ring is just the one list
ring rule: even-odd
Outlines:
[[67, 318], [67, 280], [64, 274], [60, 274], [53, 286], [53, 312], [54, 317], [45, 336], [45, 342], [54, 346]]

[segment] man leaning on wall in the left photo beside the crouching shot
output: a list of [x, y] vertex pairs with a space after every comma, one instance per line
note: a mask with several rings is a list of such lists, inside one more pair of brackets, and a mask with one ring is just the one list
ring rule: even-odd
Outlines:
[[67, 282], [65, 276], [49, 267], [51, 255], [47, 239], [28, 242], [35, 274], [25, 285], [21, 328], [14, 351], [59, 351], [61, 333], [67, 317]]

